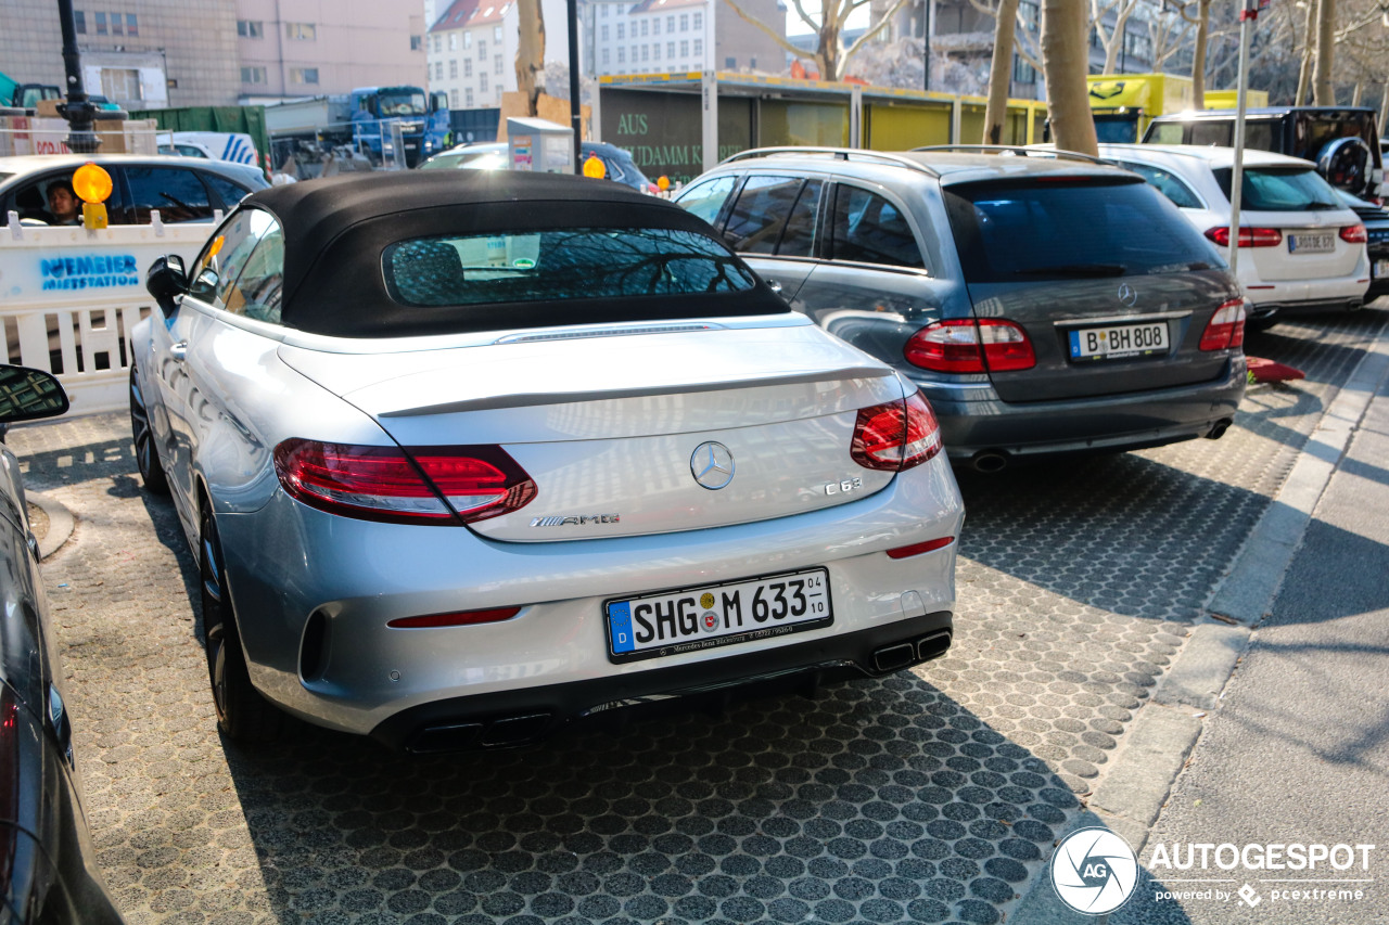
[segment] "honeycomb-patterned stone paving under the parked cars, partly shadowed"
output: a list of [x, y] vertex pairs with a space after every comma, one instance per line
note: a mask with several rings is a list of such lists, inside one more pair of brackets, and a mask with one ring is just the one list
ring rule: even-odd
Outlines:
[[1386, 322], [1251, 336], [1307, 379], [1251, 389], [1222, 440], [961, 474], [940, 661], [506, 754], [303, 725], [224, 747], [196, 567], [128, 421], [17, 428], [76, 515], [43, 568], [111, 892], [132, 925], [1001, 921]]

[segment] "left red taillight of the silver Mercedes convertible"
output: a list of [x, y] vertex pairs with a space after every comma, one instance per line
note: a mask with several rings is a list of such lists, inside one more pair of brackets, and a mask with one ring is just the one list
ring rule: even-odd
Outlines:
[[285, 440], [279, 483], [329, 514], [390, 524], [483, 521], [525, 507], [535, 482], [497, 446], [399, 447]]

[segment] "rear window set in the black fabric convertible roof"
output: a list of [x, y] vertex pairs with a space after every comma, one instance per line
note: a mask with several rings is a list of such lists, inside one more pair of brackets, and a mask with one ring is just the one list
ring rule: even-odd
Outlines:
[[382, 251], [390, 297], [413, 307], [750, 290], [721, 243], [674, 228], [564, 228], [415, 238]]

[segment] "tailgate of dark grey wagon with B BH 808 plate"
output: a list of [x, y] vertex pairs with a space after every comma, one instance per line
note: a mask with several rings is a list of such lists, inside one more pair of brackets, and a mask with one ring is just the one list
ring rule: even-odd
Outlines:
[[[1186, 218], [1115, 172], [947, 188], [975, 318], [1020, 326], [1036, 364], [990, 371], [1004, 401], [1054, 401], [1207, 382], [1225, 351], [1201, 351], [1215, 310], [1239, 297]], [[1096, 344], [1124, 340], [1100, 357]]]

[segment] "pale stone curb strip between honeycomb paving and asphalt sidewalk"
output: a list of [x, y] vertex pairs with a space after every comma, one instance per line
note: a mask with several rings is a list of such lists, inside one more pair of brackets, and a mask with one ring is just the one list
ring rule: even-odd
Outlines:
[[[1108, 774], [1089, 800], [1082, 801], [1085, 811], [1057, 842], [1078, 828], [1103, 825], [1142, 857], [1172, 785], [1200, 739], [1206, 711], [1220, 706], [1221, 692], [1247, 651], [1254, 629], [1271, 612], [1313, 511], [1379, 385], [1389, 376], [1386, 333], [1389, 329], [1379, 332], [1332, 396], [1278, 494], [1236, 553], [1229, 574], [1207, 599], [1208, 615], [1192, 628], [1153, 697], [1138, 710]], [[1010, 918], [1025, 925], [1074, 925], [1081, 919], [1057, 899], [1045, 869]], [[1100, 915], [1096, 921], [1107, 919]]]

